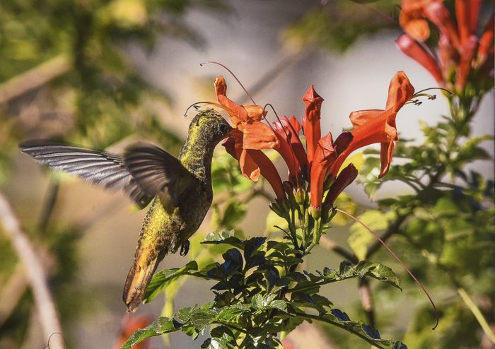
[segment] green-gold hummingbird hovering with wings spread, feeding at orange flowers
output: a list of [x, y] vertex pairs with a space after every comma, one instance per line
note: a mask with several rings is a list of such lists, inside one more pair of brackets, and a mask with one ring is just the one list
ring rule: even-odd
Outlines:
[[92, 184], [122, 189], [144, 217], [134, 262], [124, 285], [127, 312], [135, 312], [166, 254], [189, 251], [189, 238], [211, 206], [211, 161], [215, 146], [233, 128], [212, 109], [199, 112], [189, 126], [179, 158], [150, 143], [136, 143], [124, 155], [53, 141], [27, 141], [19, 148], [42, 165], [77, 175]]

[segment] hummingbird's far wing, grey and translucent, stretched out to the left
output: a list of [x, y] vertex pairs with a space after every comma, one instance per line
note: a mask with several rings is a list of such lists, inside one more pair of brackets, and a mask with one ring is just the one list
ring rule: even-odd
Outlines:
[[21, 151], [36, 162], [77, 175], [92, 184], [110, 189], [122, 189], [140, 207], [144, 208], [154, 195], [144, 191], [119, 155], [101, 150], [30, 141], [19, 145]]

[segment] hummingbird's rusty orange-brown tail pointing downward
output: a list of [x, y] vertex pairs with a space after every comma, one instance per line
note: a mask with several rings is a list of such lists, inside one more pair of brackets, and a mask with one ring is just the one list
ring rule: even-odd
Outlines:
[[139, 307], [144, 298], [144, 291], [155, 273], [158, 263], [166, 253], [156, 254], [151, 249], [141, 251], [136, 254], [134, 264], [132, 264], [127, 280], [124, 285], [122, 299], [127, 305], [127, 312], [133, 313]]

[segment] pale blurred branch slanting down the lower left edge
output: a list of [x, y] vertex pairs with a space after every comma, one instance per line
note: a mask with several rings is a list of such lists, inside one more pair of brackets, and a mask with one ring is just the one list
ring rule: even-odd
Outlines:
[[[16, 249], [17, 254], [23, 261], [25, 271], [28, 273], [45, 340], [48, 341], [52, 333], [62, 333], [62, 327], [47, 285], [45, 270], [42, 268], [41, 261], [35, 253], [33, 244], [31, 244], [25, 232], [21, 230], [16, 216], [2, 194], [0, 194], [0, 220], [6, 236], [11, 240], [14, 249]], [[54, 336], [51, 346], [54, 349], [65, 348], [62, 336]]]

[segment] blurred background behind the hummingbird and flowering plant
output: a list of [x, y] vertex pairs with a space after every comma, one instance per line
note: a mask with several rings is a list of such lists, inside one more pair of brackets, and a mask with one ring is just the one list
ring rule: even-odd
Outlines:
[[[397, 25], [400, 1], [328, 2], [322, 7], [320, 1], [296, 0], [1, 1], [0, 190], [36, 247], [49, 252], [45, 268], [68, 348], [112, 348], [119, 336], [125, 313], [122, 287], [144, 211], [136, 210], [122, 193], [35, 164], [17, 144], [62, 138], [119, 153], [133, 141], [146, 140], [177, 155], [194, 111], [188, 117], [183, 114], [194, 102], [214, 100], [216, 76], [226, 77], [231, 99], [248, 102], [225, 70], [214, 64], [200, 66], [206, 61], [228, 66], [257, 104], [269, 102], [279, 115], [301, 119], [301, 98], [314, 84], [325, 99], [324, 133], [348, 129], [354, 110], [385, 107], [396, 71], [405, 71], [416, 90], [436, 86], [421, 66], [395, 47], [402, 32]], [[493, 2], [485, 2], [480, 23], [493, 11]], [[419, 121], [433, 125], [443, 114], [448, 114], [448, 104], [442, 97], [407, 105], [397, 117], [397, 129], [402, 138], [419, 142]], [[473, 136], [487, 133], [494, 134], [493, 90], [472, 122]], [[493, 157], [493, 143], [482, 146]], [[491, 160], [470, 166], [494, 178]], [[347, 192], [361, 206], [375, 207], [360, 184]], [[376, 197], [406, 192], [400, 184], [388, 183]], [[264, 233], [265, 220], [260, 217], [268, 211], [262, 199], [250, 203], [241, 225], [245, 235]], [[198, 234], [211, 231], [210, 218]], [[331, 233], [347, 244], [346, 227]], [[390, 261], [386, 254], [378, 258]], [[341, 259], [318, 249], [305, 267], [337, 267]], [[186, 261], [170, 255], [160, 268]], [[22, 274], [11, 243], [0, 234], [0, 348], [45, 348]], [[205, 302], [209, 287], [188, 281], [176, 306]], [[355, 307], [359, 314], [356, 284], [349, 281], [347, 287], [349, 292], [329, 286], [325, 295], [339, 307]], [[417, 304], [426, 302], [418, 294], [412, 285], [402, 294], [387, 293], [383, 297], [395, 297], [393, 307], [377, 298], [384, 338], [407, 332]], [[443, 290], [435, 288], [432, 294], [441, 298]], [[158, 300], [142, 306], [139, 314], [156, 319], [162, 307]], [[341, 344], [349, 337], [346, 333], [322, 333], [333, 345], [329, 348], [368, 348], [359, 342]], [[172, 348], [198, 348], [200, 343], [181, 333], [170, 338]], [[151, 348], [163, 345], [160, 338], [153, 339]]]

